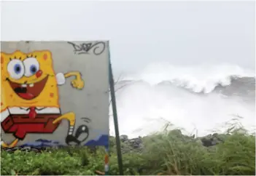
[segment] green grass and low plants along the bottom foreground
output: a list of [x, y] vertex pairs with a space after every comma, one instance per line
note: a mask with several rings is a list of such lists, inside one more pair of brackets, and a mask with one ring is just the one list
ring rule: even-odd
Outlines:
[[[255, 175], [255, 135], [236, 130], [225, 143], [206, 148], [175, 130], [144, 137], [144, 152], [123, 154], [125, 175]], [[119, 175], [111, 137], [110, 175]], [[104, 148], [66, 148], [51, 153], [1, 152], [1, 175], [95, 175], [104, 171]]]

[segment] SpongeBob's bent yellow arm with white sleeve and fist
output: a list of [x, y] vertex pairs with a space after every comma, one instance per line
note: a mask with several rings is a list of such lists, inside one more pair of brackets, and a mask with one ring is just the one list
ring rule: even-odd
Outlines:
[[69, 72], [69, 73], [65, 73], [65, 74], [57, 73], [56, 79], [57, 79], [58, 85], [65, 84], [66, 78], [69, 78], [71, 76], [76, 77], [73, 81], [71, 81], [72, 87], [77, 88], [77, 89], [82, 89], [84, 87], [84, 81], [82, 80], [81, 73], [79, 73], [78, 71]]

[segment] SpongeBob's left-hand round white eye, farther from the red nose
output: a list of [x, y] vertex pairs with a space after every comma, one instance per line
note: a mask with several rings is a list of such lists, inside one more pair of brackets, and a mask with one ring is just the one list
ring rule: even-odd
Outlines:
[[24, 65], [20, 60], [12, 59], [7, 65], [7, 71], [12, 79], [20, 79], [24, 75]]

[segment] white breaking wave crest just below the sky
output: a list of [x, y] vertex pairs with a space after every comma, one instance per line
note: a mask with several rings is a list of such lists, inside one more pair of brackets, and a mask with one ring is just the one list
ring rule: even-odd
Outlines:
[[[150, 85], [172, 84], [195, 93], [208, 94], [225, 87], [255, 89], [255, 72], [237, 65], [177, 67], [174, 65], [149, 65], [141, 73], [125, 76], [118, 84], [144, 82]], [[233, 86], [234, 85], [234, 86]]]

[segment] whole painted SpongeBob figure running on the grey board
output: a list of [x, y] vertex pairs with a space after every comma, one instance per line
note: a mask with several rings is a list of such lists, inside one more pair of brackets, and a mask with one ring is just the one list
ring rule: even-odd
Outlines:
[[63, 119], [69, 121], [66, 142], [74, 140], [75, 113], [62, 114], [58, 103], [58, 86], [69, 77], [74, 77], [72, 87], [83, 89], [78, 71], [55, 74], [49, 50], [1, 52], [1, 128], [15, 136], [2, 147], [14, 147], [29, 133], [53, 133]]

